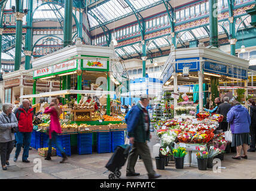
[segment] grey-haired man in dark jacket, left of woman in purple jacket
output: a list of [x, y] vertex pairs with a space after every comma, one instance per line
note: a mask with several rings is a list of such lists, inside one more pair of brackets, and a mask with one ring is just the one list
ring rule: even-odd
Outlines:
[[217, 109], [218, 114], [223, 115], [224, 119], [222, 122], [220, 122], [220, 126], [218, 127], [218, 130], [227, 131], [228, 122], [227, 122], [227, 113], [231, 108], [231, 104], [229, 102], [229, 97], [223, 98], [224, 103], [221, 103], [220, 106]]

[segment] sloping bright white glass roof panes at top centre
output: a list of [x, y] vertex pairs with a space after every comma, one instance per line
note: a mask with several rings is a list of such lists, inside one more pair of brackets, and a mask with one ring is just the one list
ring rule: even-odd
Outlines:
[[[133, 7], [136, 8], [136, 10], [147, 7], [148, 5], [151, 5], [155, 2], [159, 2], [159, 0], [130, 1], [130, 3], [133, 5]], [[97, 18], [100, 21], [102, 21], [102, 23], [105, 23], [106, 21], [114, 20], [114, 19], [117, 19], [118, 17], [132, 13], [132, 8], [130, 8], [130, 6], [124, 0], [110, 0], [99, 6], [96, 5], [95, 8], [93, 8], [92, 10], [89, 10], [89, 13], [91, 12], [95, 14]], [[91, 19], [89, 20], [90, 20], [91, 27], [99, 25], [99, 23], [97, 23], [96, 20], [94, 21], [91, 21]]]

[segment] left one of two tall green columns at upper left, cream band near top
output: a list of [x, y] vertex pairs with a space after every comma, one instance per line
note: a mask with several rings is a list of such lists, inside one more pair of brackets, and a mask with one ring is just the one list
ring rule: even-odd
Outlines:
[[22, 62], [22, 22], [23, 22], [23, 1], [16, 0], [16, 41], [15, 41], [15, 59], [14, 70], [20, 69], [20, 63]]

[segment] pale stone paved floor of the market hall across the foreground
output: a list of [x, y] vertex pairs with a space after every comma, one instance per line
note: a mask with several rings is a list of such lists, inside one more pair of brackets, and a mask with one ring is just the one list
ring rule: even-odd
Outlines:
[[[154, 133], [153, 139], [149, 143], [152, 151], [153, 145], [158, 143], [158, 138]], [[110, 172], [106, 171], [105, 165], [111, 157], [112, 153], [93, 153], [92, 155], [72, 155], [68, 158], [68, 162], [60, 164], [59, 156], [52, 157], [52, 161], [45, 161], [39, 156], [35, 149], [29, 151], [29, 160], [31, 163], [26, 164], [19, 157], [17, 162], [13, 162], [14, 151], [11, 153], [10, 167], [7, 171], [0, 169], [0, 179], [105, 179], [108, 178]], [[173, 161], [170, 161], [164, 170], [156, 170], [161, 174], [163, 179], [227, 179], [227, 178], [256, 178], [256, 152], [248, 153], [248, 159], [234, 160], [231, 157], [234, 153], [224, 155], [224, 161], [221, 161], [221, 172], [199, 171], [196, 167], [184, 167], [182, 170], [175, 168]], [[41, 159], [42, 172], [34, 172], [33, 168], [36, 163], [34, 159]], [[36, 160], [35, 160], [36, 161]], [[156, 169], [156, 162], [153, 159], [153, 165]], [[130, 179], [145, 179], [148, 178], [147, 171], [141, 160], [138, 160], [136, 172], [140, 172], [138, 177], [129, 177]], [[126, 164], [121, 168], [121, 178], [126, 179]]]

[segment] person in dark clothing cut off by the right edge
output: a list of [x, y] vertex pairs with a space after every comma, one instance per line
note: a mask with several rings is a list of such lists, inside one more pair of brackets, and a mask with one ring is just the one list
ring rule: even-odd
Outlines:
[[250, 125], [250, 136], [251, 136], [251, 145], [248, 149], [248, 152], [255, 152], [255, 140], [256, 140], [256, 106], [253, 98], [249, 99], [250, 104], [250, 116], [251, 116], [251, 125]]

